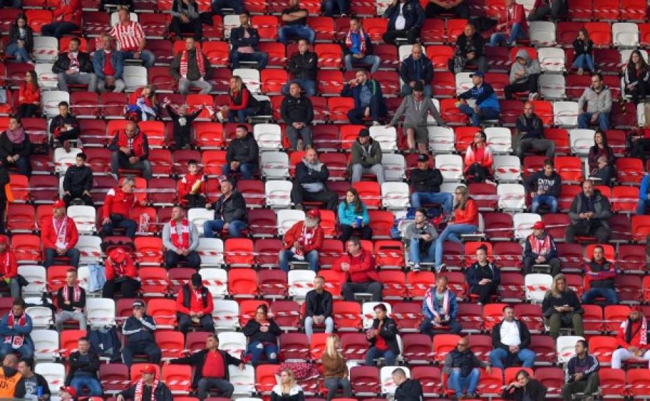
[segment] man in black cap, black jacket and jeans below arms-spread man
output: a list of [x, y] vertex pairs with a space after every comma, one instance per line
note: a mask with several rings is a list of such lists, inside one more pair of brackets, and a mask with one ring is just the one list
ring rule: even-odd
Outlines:
[[411, 207], [419, 209], [424, 204], [437, 203], [445, 213], [451, 212], [454, 196], [448, 192], [440, 192], [443, 182], [439, 169], [429, 167], [429, 155], [420, 153], [417, 167], [411, 170]]

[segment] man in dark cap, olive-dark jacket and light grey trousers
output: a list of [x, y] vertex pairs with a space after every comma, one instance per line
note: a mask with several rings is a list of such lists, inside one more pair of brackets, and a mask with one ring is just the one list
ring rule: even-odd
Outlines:
[[381, 185], [384, 178], [384, 166], [381, 164], [381, 146], [370, 138], [367, 128], [360, 129], [358, 138], [352, 144], [350, 166], [348, 167], [351, 183], [361, 180], [362, 174], [374, 174]]

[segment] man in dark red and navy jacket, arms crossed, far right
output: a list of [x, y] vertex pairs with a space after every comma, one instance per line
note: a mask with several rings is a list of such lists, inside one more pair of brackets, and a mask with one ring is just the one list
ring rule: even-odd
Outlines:
[[584, 272], [585, 287], [588, 286], [589, 290], [582, 295], [583, 304], [592, 304], [599, 297], [605, 299], [606, 305], [618, 303], [615, 288], [616, 266], [613, 262], [605, 259], [602, 245], [594, 247], [593, 257], [585, 263]]

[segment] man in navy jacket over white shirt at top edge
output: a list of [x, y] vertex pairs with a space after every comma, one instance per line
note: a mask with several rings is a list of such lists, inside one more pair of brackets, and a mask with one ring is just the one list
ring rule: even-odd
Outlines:
[[388, 19], [384, 42], [396, 44], [398, 37], [406, 37], [408, 44], [414, 44], [420, 37], [420, 30], [424, 24], [424, 10], [419, 1], [393, 0], [384, 12]]

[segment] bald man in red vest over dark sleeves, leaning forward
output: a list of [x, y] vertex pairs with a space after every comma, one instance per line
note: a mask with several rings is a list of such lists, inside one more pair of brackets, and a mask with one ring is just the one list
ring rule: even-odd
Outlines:
[[118, 177], [120, 169], [139, 170], [146, 180], [151, 179], [149, 161], [149, 140], [147, 134], [140, 132], [138, 124], [126, 123], [124, 132], [113, 137], [108, 149], [111, 151], [111, 173]]

